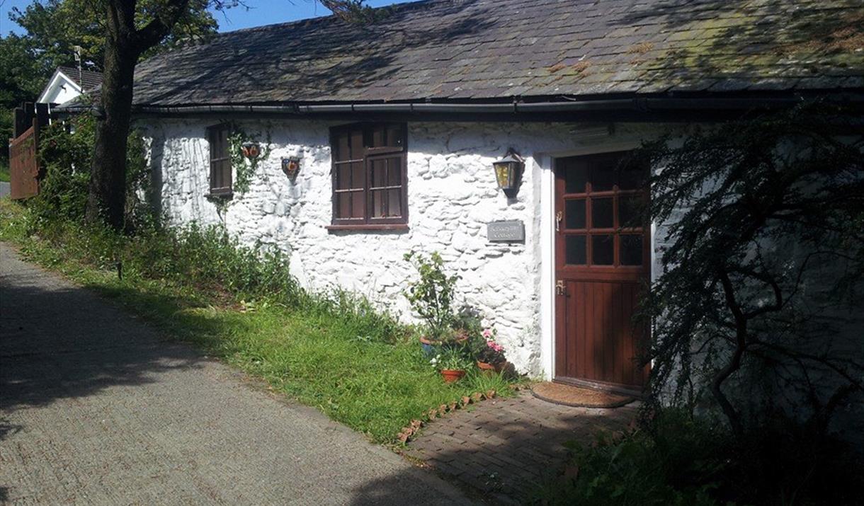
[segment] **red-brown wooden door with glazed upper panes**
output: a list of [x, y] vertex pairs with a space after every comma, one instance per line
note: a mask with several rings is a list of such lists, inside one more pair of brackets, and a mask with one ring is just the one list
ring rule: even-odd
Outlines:
[[648, 171], [626, 152], [556, 160], [556, 381], [641, 389], [647, 327], [633, 322], [650, 275]]

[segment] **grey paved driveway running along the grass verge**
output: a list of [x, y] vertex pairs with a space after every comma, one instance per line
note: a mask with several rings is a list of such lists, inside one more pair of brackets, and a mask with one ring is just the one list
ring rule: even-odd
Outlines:
[[0, 503], [465, 503], [0, 244]]

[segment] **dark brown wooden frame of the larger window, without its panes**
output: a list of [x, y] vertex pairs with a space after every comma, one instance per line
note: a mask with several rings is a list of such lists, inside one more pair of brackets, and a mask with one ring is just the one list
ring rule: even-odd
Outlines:
[[[402, 132], [401, 146], [387, 147], [367, 147], [366, 139], [371, 138], [372, 131], [381, 127], [397, 126]], [[340, 135], [351, 131], [362, 131], [363, 136], [363, 152], [362, 157], [352, 155], [352, 158], [346, 160], [336, 160], [338, 147], [338, 139]], [[354, 231], [375, 231], [375, 230], [405, 230], [408, 228], [408, 125], [407, 123], [349, 123], [336, 126], [330, 129], [330, 173], [331, 173], [331, 225], [327, 229], [332, 231], [354, 230]], [[398, 157], [400, 159], [400, 182], [398, 187], [400, 190], [400, 208], [401, 215], [398, 217], [373, 218], [372, 217], [372, 163], [374, 161]], [[339, 216], [339, 193], [350, 191], [348, 189], [338, 189], [337, 177], [339, 175], [338, 165], [344, 163], [363, 163], [364, 169], [364, 216], [363, 218], [338, 218]], [[386, 188], [385, 188], [386, 189]], [[392, 188], [391, 188], [392, 189]], [[354, 192], [357, 193], [357, 192]]]

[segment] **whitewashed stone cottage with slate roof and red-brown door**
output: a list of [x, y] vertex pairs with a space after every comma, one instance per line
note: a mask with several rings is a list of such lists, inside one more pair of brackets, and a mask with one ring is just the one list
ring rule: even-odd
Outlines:
[[405, 319], [403, 254], [439, 251], [519, 370], [632, 390], [663, 234], [631, 218], [649, 168], [619, 161], [677, 125], [860, 94], [854, 4], [427, 0], [156, 56], [134, 107], [175, 223]]

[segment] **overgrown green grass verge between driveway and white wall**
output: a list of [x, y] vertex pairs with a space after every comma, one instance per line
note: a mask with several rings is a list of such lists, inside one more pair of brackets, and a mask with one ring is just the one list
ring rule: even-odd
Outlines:
[[394, 442], [423, 411], [462, 395], [511, 392], [499, 376], [443, 383], [410, 327], [351, 294], [308, 294], [283, 256], [219, 230], [124, 237], [3, 201], [0, 239], [376, 442]]

